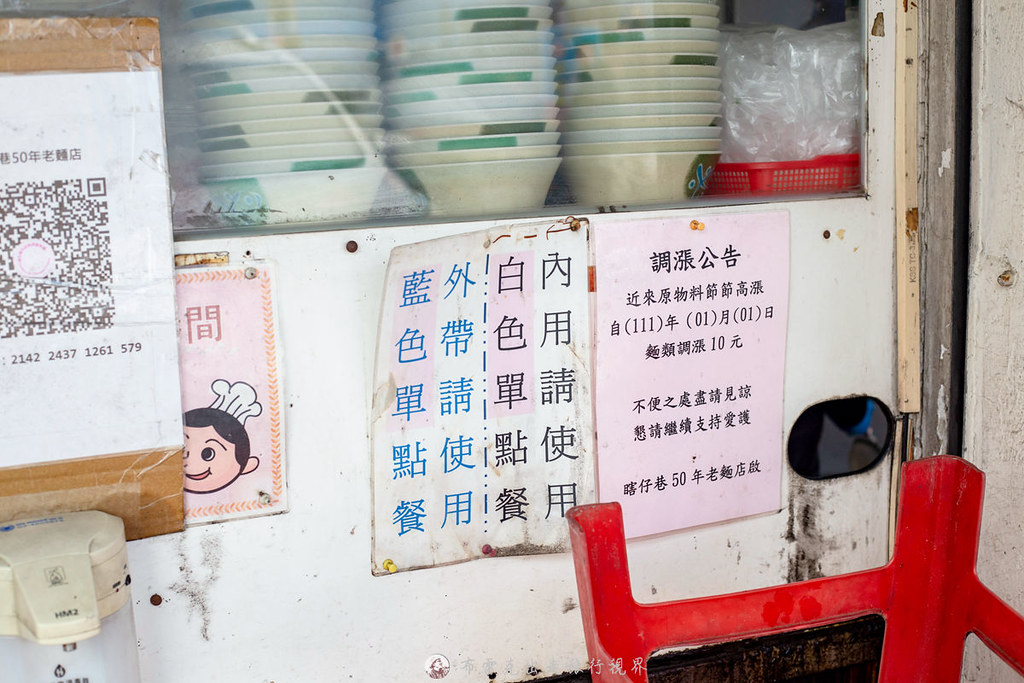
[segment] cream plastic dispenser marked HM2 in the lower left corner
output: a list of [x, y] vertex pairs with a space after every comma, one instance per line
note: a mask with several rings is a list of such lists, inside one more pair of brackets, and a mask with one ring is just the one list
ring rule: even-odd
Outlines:
[[138, 683], [124, 523], [103, 512], [0, 522], [3, 680]]

